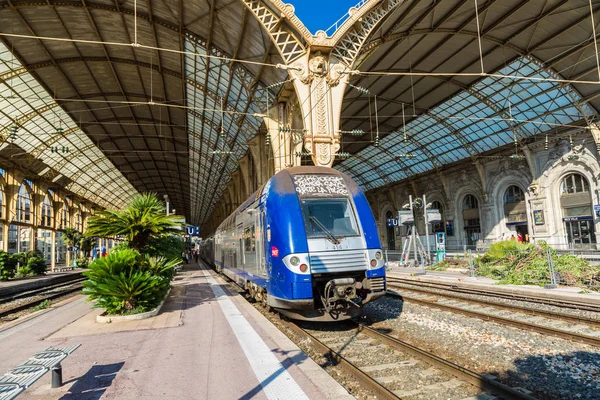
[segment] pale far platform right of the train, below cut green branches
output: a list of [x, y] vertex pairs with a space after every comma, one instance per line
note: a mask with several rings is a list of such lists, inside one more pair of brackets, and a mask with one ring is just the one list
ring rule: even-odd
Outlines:
[[500, 285], [494, 279], [482, 276], [472, 278], [468, 274], [458, 271], [441, 272], [425, 270], [424, 275], [422, 275], [422, 272], [423, 269], [420, 267], [408, 268], [394, 266], [386, 271], [386, 274], [388, 278], [398, 277], [423, 283], [452, 284], [453, 286], [467, 289], [490, 290], [504, 294], [532, 296], [600, 307], [600, 293], [593, 291], [583, 293], [582, 289], [579, 287], [559, 285], [555, 289], [546, 289], [535, 285]]

